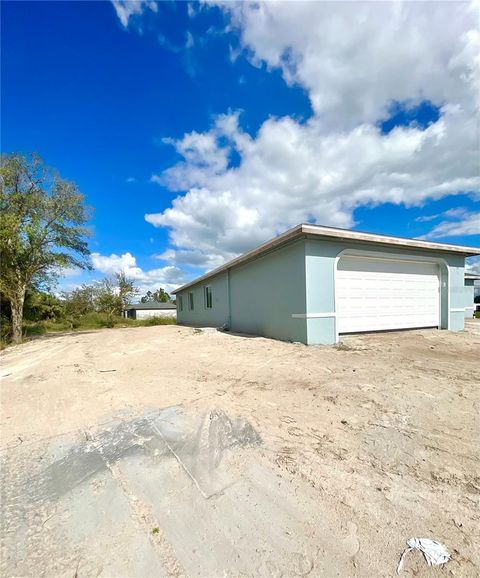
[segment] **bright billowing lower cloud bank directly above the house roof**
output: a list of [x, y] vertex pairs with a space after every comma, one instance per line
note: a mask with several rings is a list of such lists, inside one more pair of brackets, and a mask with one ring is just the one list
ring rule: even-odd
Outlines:
[[[179, 251], [226, 260], [300, 222], [350, 227], [362, 205], [414, 206], [479, 190], [476, 125], [460, 114], [446, 110], [424, 131], [388, 135], [368, 124], [325, 132], [315, 118], [300, 125], [286, 117], [267, 120], [256, 138], [235, 115], [222, 117], [209, 133], [174, 143], [184, 160], [156, 178], [188, 192], [146, 220], [169, 227]], [[239, 166], [228, 164], [232, 151]]]

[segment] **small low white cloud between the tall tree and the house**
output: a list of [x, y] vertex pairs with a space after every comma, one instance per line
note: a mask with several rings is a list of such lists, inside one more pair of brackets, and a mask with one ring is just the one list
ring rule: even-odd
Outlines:
[[129, 252], [122, 255], [92, 253], [92, 264], [96, 271], [105, 275], [114, 275], [124, 271], [127, 277], [135, 281], [140, 293], [159, 287], [171, 291], [185, 281], [184, 272], [173, 265], [147, 271], [141, 269], [137, 265], [136, 258]]

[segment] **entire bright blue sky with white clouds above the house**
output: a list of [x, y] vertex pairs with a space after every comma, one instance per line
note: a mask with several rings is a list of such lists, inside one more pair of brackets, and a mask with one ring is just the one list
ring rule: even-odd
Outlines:
[[480, 245], [478, 36], [430, 5], [3, 2], [2, 151], [95, 209], [62, 285], [173, 288], [306, 220]]

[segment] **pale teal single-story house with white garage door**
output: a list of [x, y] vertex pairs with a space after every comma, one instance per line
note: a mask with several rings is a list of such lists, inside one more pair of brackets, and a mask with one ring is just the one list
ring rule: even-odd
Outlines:
[[177, 320], [306, 344], [343, 333], [464, 327], [480, 248], [298, 225], [177, 291]]

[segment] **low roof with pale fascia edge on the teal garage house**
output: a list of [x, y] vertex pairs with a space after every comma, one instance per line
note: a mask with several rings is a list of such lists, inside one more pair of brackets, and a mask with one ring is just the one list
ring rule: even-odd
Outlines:
[[349, 229], [338, 229], [335, 227], [324, 227], [321, 225], [307, 225], [301, 224], [293, 227], [293, 229], [289, 229], [285, 233], [278, 235], [274, 239], [263, 243], [256, 249], [249, 251], [248, 253], [244, 253], [239, 257], [232, 259], [225, 265], [218, 267], [217, 269], [213, 269], [202, 275], [201, 277], [197, 277], [193, 281], [182, 285], [172, 293], [179, 293], [200, 283], [223, 271], [226, 271], [232, 267], [237, 265], [241, 265], [271, 251], [272, 249], [279, 247], [293, 239], [299, 237], [316, 237], [325, 240], [345, 240], [345, 241], [354, 241], [359, 243], [371, 243], [374, 245], [383, 245], [383, 246], [390, 246], [390, 247], [404, 247], [408, 249], [422, 249], [424, 251], [434, 251], [434, 252], [441, 252], [441, 253], [456, 253], [457, 255], [463, 255], [464, 257], [471, 257], [473, 255], [480, 255], [480, 247], [465, 247], [461, 245], [449, 245], [446, 243], [434, 243], [432, 241], [424, 241], [422, 239], [408, 239], [406, 237], [392, 237], [390, 235], [377, 235], [374, 233], [365, 233], [362, 231], [350, 231]]

